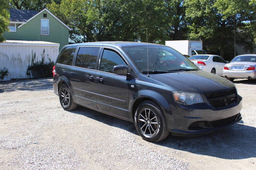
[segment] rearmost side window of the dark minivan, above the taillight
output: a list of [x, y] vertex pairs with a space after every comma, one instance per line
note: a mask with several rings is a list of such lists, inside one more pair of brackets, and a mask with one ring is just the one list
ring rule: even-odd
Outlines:
[[72, 65], [72, 60], [73, 60], [75, 51], [76, 51], [76, 46], [64, 48], [60, 53], [57, 63]]

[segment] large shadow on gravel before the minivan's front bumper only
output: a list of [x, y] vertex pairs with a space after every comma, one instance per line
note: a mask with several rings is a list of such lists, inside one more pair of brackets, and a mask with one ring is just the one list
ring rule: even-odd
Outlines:
[[[243, 121], [240, 121], [240, 123], [243, 123]], [[222, 159], [255, 158], [256, 128], [240, 123], [198, 137], [174, 137], [169, 135], [157, 144]]]

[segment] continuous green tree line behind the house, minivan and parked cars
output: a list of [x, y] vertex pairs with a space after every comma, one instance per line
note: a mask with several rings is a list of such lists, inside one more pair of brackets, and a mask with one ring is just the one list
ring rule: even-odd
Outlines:
[[[3, 1], [3, 0], [1, 0]], [[252, 52], [256, 0], [10, 0], [11, 7], [47, 7], [72, 30], [71, 43], [92, 41], [202, 40], [225, 59], [236, 44]]]

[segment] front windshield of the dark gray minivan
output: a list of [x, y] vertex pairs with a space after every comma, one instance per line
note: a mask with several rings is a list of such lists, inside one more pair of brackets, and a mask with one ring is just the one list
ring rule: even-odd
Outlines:
[[142, 73], [166, 73], [172, 71], [199, 70], [186, 57], [170, 47], [147, 46], [123, 47]]

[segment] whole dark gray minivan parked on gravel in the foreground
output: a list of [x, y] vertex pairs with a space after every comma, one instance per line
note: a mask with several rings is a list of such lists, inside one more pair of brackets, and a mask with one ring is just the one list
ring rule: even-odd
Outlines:
[[53, 67], [64, 110], [77, 104], [135, 123], [156, 142], [194, 136], [242, 119], [242, 97], [225, 78], [200, 70], [174, 49], [139, 42], [64, 46]]

